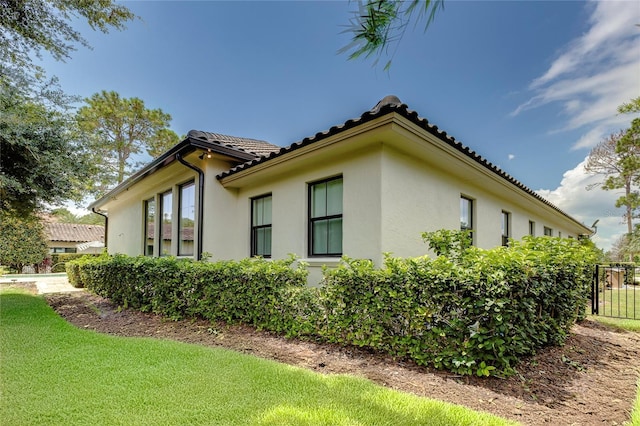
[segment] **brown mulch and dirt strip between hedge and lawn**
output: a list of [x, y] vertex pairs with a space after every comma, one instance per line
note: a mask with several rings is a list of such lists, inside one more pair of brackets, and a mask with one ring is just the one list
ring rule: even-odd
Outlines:
[[507, 379], [460, 377], [358, 348], [288, 340], [246, 326], [170, 321], [118, 309], [86, 292], [51, 294], [49, 304], [84, 329], [224, 347], [321, 373], [347, 373], [381, 385], [487, 411], [523, 424], [619, 425], [627, 421], [640, 374], [640, 334], [584, 321], [565, 346], [523, 359]]

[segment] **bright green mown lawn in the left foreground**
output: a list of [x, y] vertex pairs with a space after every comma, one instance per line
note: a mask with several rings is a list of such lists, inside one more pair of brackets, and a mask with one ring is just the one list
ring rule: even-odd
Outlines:
[[370, 381], [223, 349], [81, 330], [41, 297], [0, 293], [7, 425], [504, 425]]

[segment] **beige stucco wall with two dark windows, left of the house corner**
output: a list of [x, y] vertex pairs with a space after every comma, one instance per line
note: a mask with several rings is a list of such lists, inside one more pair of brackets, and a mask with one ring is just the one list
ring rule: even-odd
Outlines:
[[[335, 266], [339, 258], [313, 257], [308, 247], [308, 184], [329, 177], [343, 176], [343, 252], [354, 258], [378, 259], [380, 239], [380, 145], [353, 150], [334, 161], [314, 161], [295, 170], [286, 169], [267, 181], [244, 188], [224, 189], [212, 185], [207, 191], [225, 200], [227, 222], [218, 222], [207, 215], [207, 235], [228, 233], [229, 249], [217, 258], [242, 259], [250, 255], [251, 198], [271, 193], [272, 202], [272, 258], [283, 259], [294, 254], [309, 265], [310, 283], [321, 279], [324, 265]], [[222, 217], [221, 216], [221, 217]], [[233, 216], [233, 217], [232, 217]], [[232, 223], [232, 226], [227, 224]], [[231, 239], [232, 238], [232, 239]], [[206, 238], [205, 238], [206, 240]], [[214, 244], [211, 244], [213, 247]], [[205, 247], [207, 247], [205, 243]], [[220, 251], [220, 249], [219, 249]]]

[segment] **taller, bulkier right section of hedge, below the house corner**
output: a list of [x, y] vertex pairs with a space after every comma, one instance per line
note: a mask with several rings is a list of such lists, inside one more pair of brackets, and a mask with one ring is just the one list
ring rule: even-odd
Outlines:
[[584, 316], [593, 255], [579, 241], [526, 237], [458, 250], [453, 258], [387, 256], [379, 269], [345, 258], [320, 290], [319, 334], [482, 376], [508, 374], [520, 357], [561, 345]]

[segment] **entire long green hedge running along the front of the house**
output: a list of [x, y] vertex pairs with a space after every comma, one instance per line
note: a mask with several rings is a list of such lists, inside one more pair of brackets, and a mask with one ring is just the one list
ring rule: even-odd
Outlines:
[[444, 254], [387, 256], [381, 268], [344, 258], [320, 289], [305, 287], [304, 265], [292, 269], [293, 259], [105, 255], [67, 267], [72, 282], [125, 307], [241, 322], [480, 376], [509, 374], [522, 356], [563, 344], [584, 316], [593, 252], [579, 241], [527, 237]]

